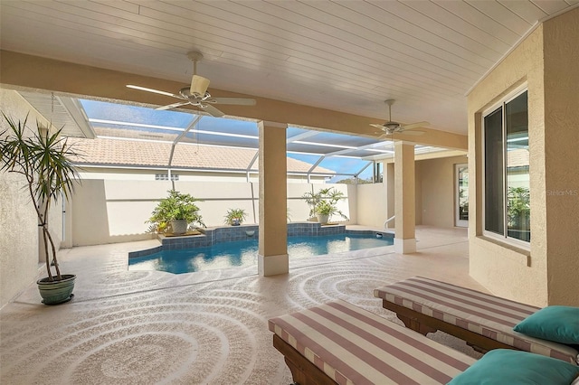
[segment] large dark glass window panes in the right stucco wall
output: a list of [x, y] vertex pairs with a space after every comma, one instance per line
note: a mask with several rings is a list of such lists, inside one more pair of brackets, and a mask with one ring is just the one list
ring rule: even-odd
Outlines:
[[484, 229], [530, 241], [527, 90], [484, 116]]

